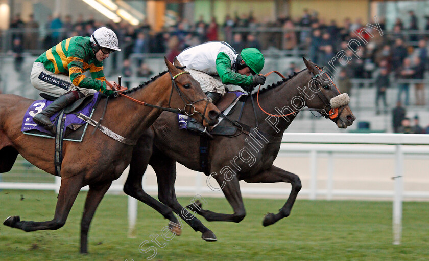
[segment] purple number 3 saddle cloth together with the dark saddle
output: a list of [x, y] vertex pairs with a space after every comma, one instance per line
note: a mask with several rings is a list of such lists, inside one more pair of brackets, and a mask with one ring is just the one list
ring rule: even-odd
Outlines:
[[[77, 141], [81, 142], [83, 136], [85, 135], [87, 123], [78, 118], [79, 113], [82, 113], [88, 117], [92, 116], [94, 110], [96, 110], [99, 99], [102, 95], [100, 93], [90, 94], [85, 96], [73, 104], [67, 106], [64, 110], [54, 114], [50, 119], [55, 124], [55, 126], [63, 125], [62, 133], [64, 140]], [[39, 126], [33, 121], [33, 117], [40, 113], [45, 107], [51, 104], [51, 100], [37, 100], [34, 101], [28, 108], [24, 119], [22, 121], [21, 132], [27, 135], [46, 137], [54, 139], [55, 136], [49, 131], [44, 129], [42, 126]], [[59, 116], [62, 115], [61, 119], [64, 119], [64, 122], [58, 124]], [[84, 128], [81, 126], [85, 125]], [[75, 130], [78, 130], [75, 132]], [[57, 133], [59, 133], [57, 129]]]

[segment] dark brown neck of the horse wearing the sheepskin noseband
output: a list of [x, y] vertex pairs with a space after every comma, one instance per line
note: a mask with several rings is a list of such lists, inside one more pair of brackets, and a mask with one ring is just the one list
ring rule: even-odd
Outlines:
[[[264, 109], [264, 111], [273, 115], [287, 115], [292, 112], [296, 112], [296, 109], [302, 108], [302, 105], [300, 107], [294, 106], [292, 104], [292, 100], [295, 97], [300, 97], [305, 101], [305, 96], [302, 93], [302, 88], [303, 86], [307, 85], [305, 84], [306, 82], [307, 80], [305, 79], [305, 72], [301, 72], [300, 74], [294, 76], [293, 78], [280, 84], [279, 86], [260, 94], [258, 98], [259, 104]], [[299, 87], [301, 88], [301, 91], [298, 90]], [[254, 99], [256, 99], [256, 97], [254, 97]], [[296, 103], [299, 100], [302, 100], [299, 98], [295, 99]], [[252, 105], [250, 104], [250, 106]], [[292, 123], [292, 121], [298, 114], [298, 112], [296, 112], [295, 114], [290, 114], [288, 116], [275, 117], [267, 115], [263, 111], [261, 111], [257, 105], [256, 100], [255, 106], [260, 130], [270, 134], [271, 136], [281, 136], [284, 130], [289, 127], [289, 125]]]

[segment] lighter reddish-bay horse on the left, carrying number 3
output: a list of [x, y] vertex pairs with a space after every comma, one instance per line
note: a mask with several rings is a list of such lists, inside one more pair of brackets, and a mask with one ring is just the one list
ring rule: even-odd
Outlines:
[[[104, 127], [134, 143], [163, 110], [184, 108], [180, 111], [192, 114], [205, 126], [216, 124], [220, 112], [204, 95], [200, 84], [166, 58], [165, 63], [168, 71], [122, 93], [123, 96], [135, 99], [134, 102], [121, 96], [113, 98], [107, 104], [104, 116], [103, 106], [98, 106], [92, 118], [103, 117]], [[17, 155], [21, 154], [36, 167], [55, 175], [55, 141], [25, 135], [20, 130], [23, 116], [33, 102], [17, 95], [0, 95], [0, 173], [8, 172]], [[90, 133], [93, 127], [88, 127]], [[88, 230], [94, 212], [112, 181], [119, 178], [130, 163], [132, 150], [133, 145], [118, 142], [99, 131], [92, 136], [85, 135], [82, 142], [64, 141], [61, 186], [54, 218], [51, 221], [33, 222], [10, 216], [3, 224], [26, 232], [59, 229], [64, 226], [81, 188], [89, 185], [81, 221], [80, 246], [80, 252], [87, 253]]]

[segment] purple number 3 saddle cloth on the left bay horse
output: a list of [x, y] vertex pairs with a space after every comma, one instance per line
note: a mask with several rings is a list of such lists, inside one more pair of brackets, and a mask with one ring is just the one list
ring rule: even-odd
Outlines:
[[[99, 96], [100, 93], [94, 93], [93, 98], [89, 101], [89, 103], [82, 104], [82, 106], [84, 106], [82, 108], [82, 106], [79, 106], [77, 108], [77, 110], [74, 110], [72, 112], [68, 112], [67, 108], [66, 108], [66, 113], [64, 113], [65, 117], [65, 121], [64, 121], [64, 133], [69, 134], [70, 132], [73, 132], [74, 130], [77, 130], [78, 128], [80, 128], [83, 125], [87, 125], [87, 123], [81, 119], [79, 119], [77, 117], [77, 115], [79, 115], [79, 113], [82, 113], [88, 117], [92, 116], [93, 111], [95, 110], [95, 107], [99, 101]], [[88, 97], [84, 97], [82, 99], [88, 99]], [[78, 100], [79, 101], [79, 100]], [[77, 102], [78, 102], [77, 101]], [[46, 137], [46, 138], [54, 138], [53, 134], [49, 131], [44, 129], [42, 126], [39, 126], [38, 124], [36, 124], [33, 121], [33, 117], [40, 113], [43, 108], [49, 106], [53, 101], [50, 100], [37, 100], [34, 101], [30, 107], [28, 108], [26, 114], [24, 115], [23, 121], [22, 121], [22, 126], [21, 126], [21, 132], [23, 132], [24, 134], [27, 135], [33, 135], [33, 136], [40, 136], [40, 137]], [[73, 104], [70, 105], [71, 107], [73, 107]], [[76, 105], [75, 105], [76, 106]], [[61, 111], [57, 112], [56, 114], [54, 114], [50, 119], [51, 121], [55, 124], [58, 120], [58, 115], [60, 114]], [[66, 132], [65, 130], [69, 130], [68, 132]], [[86, 129], [86, 127], [85, 127]], [[76, 138], [71, 138], [69, 140], [71, 141], [82, 141], [82, 137], [83, 137], [82, 133], [81, 135], [78, 135], [78, 137]], [[67, 140], [67, 139], [65, 139]]]

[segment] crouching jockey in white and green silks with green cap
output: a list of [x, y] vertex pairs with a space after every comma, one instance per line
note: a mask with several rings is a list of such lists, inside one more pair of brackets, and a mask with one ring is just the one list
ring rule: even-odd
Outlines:
[[[265, 76], [258, 75], [265, 60], [256, 48], [246, 48], [237, 54], [226, 42], [209, 41], [183, 50], [176, 59], [200, 83], [213, 104], [225, 94], [227, 84], [239, 85], [251, 92], [266, 80]], [[187, 129], [198, 134], [205, 132], [203, 125], [194, 119], [189, 121]]]

